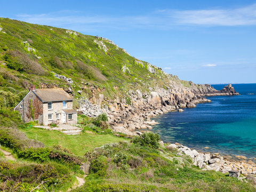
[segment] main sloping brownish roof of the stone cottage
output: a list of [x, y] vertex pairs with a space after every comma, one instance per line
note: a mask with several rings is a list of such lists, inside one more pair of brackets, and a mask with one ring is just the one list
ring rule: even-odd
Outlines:
[[35, 93], [42, 102], [73, 100], [73, 97], [61, 88], [35, 89], [33, 93]]

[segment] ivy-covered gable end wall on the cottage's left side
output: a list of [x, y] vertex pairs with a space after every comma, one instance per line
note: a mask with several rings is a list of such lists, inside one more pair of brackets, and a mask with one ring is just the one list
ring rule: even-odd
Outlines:
[[[34, 119], [33, 112], [30, 109], [30, 105], [32, 104], [34, 110]], [[22, 108], [21, 108], [22, 105]], [[43, 105], [41, 100], [36, 97], [33, 92], [29, 92], [26, 97], [19, 103], [15, 110], [19, 111], [23, 122], [27, 123], [30, 121], [38, 121], [38, 123], [43, 123]]]

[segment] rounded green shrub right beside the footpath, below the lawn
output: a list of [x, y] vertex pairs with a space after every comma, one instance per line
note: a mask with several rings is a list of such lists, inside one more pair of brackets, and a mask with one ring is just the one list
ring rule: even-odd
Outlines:
[[99, 156], [91, 162], [91, 172], [97, 174], [100, 177], [105, 177], [107, 174], [108, 161], [107, 157]]

